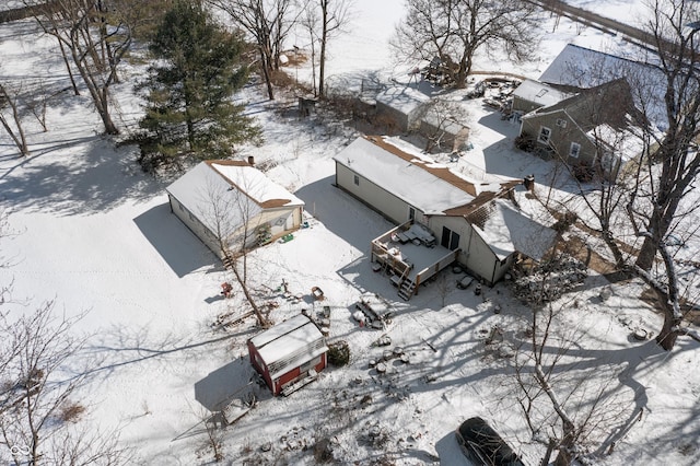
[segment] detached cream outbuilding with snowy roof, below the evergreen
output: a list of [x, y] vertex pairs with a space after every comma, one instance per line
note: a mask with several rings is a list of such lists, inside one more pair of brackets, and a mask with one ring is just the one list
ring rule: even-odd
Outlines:
[[304, 202], [252, 163], [201, 162], [167, 188], [175, 213], [217, 256], [298, 230]]

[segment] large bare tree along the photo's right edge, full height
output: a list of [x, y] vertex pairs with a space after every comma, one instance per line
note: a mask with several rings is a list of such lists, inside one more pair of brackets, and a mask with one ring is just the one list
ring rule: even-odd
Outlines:
[[[700, 137], [700, 70], [697, 62], [697, 20], [700, 9], [686, 0], [650, 1], [646, 30], [656, 45], [656, 69], [645, 69], [645, 77], [632, 75], [635, 103], [646, 119], [638, 135], [642, 158], [625, 186], [625, 210], [633, 233], [643, 240], [641, 249], [622, 267], [641, 277], [657, 296], [664, 324], [656, 337], [662, 348], [674, 348], [678, 336], [700, 341], [700, 335], [684, 326], [681, 301], [691, 291], [682, 290], [669, 246], [674, 231], [695, 232], [688, 219], [697, 218], [700, 206], [687, 202], [686, 196], [700, 174], [697, 140]], [[663, 118], [660, 118], [660, 114]], [[610, 190], [608, 195], [611, 195]], [[603, 197], [602, 197], [603, 199]], [[612, 199], [610, 196], [607, 199]], [[593, 209], [602, 212], [602, 222], [611, 218], [615, 205]], [[605, 224], [603, 224], [605, 226]], [[605, 229], [604, 229], [605, 230]], [[622, 253], [612, 232], [603, 231], [606, 244], [620, 266]], [[695, 234], [695, 233], [693, 233]], [[616, 246], [618, 251], [616, 252]], [[696, 296], [697, 298], [697, 296]]]

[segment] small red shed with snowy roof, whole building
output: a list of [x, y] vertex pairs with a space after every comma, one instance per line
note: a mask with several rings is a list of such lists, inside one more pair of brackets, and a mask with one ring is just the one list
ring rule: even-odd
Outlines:
[[314, 380], [326, 368], [328, 347], [316, 324], [300, 314], [250, 338], [248, 352], [253, 366], [279, 395]]

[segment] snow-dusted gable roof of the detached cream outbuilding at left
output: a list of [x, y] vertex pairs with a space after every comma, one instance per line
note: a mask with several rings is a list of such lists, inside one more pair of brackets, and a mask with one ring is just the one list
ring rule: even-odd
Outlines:
[[[166, 190], [210, 231], [218, 231], [217, 222], [219, 229], [225, 223], [226, 229], [232, 231], [221, 232], [222, 235], [233, 233], [246, 219], [265, 209], [304, 205], [255, 166], [242, 161], [200, 162]], [[217, 210], [225, 210], [224, 222], [223, 219], [217, 219]]]

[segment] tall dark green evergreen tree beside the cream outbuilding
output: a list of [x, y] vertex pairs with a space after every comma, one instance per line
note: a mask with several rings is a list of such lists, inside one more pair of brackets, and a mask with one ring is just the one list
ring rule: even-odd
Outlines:
[[145, 82], [140, 163], [151, 172], [186, 158], [225, 159], [233, 145], [260, 136], [231, 96], [247, 80], [245, 44], [212, 20], [201, 2], [177, 0], [160, 24]]

